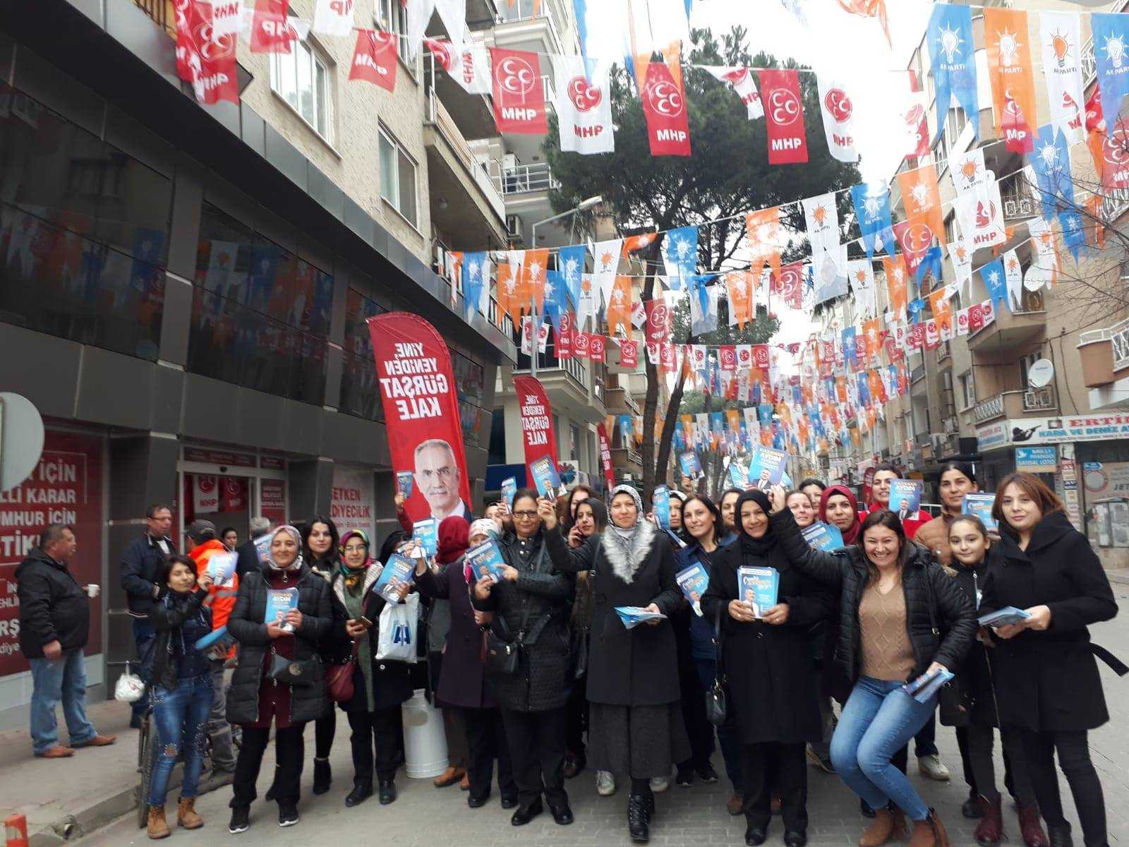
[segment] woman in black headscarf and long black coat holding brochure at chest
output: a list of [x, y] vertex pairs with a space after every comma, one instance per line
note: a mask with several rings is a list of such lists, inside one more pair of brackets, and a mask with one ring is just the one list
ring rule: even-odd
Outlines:
[[[714, 557], [702, 612], [707, 620], [720, 613], [723, 669], [741, 742], [745, 842], [764, 842], [777, 791], [784, 842], [803, 847], [805, 745], [823, 735], [808, 630], [830, 617], [833, 603], [830, 592], [788, 562], [769, 525], [770, 509], [763, 491], [745, 491], [737, 499], [737, 541]], [[772, 568], [779, 579], [777, 602], [759, 615], [741, 591], [739, 570], [746, 567]]]

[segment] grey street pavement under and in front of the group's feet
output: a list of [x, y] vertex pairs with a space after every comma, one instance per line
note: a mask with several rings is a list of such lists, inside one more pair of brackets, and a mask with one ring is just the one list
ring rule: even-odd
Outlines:
[[[1122, 613], [1111, 622], [1092, 628], [1096, 643], [1109, 647], [1122, 658], [1129, 658], [1129, 585], [1114, 584]], [[1111, 844], [1129, 844], [1129, 678], [1119, 679], [1101, 665], [1110, 706], [1109, 724], [1091, 734], [1091, 750], [1105, 788], [1105, 805], [1109, 813], [1109, 836]], [[309, 793], [313, 780], [309, 759], [313, 756], [313, 727], [307, 732], [307, 767], [303, 775], [303, 800], [299, 806], [301, 821], [287, 829], [278, 826], [278, 809], [273, 803], [259, 800], [252, 807], [252, 827], [239, 836], [227, 832], [230, 788], [205, 795], [196, 804], [207, 823], [199, 832], [173, 829], [169, 844], [202, 842], [203, 839], [230, 839], [233, 844], [271, 845], [272, 847], [308, 847], [310, 844], [333, 842], [394, 844], [396, 847], [489, 847], [544, 845], [629, 845], [627, 836], [627, 794], [618, 792], [611, 797], [601, 797], [595, 792], [594, 777], [585, 770], [576, 779], [568, 781], [576, 822], [569, 827], [558, 827], [546, 813], [525, 827], [513, 827], [510, 813], [498, 803], [497, 791], [491, 802], [478, 810], [466, 806], [466, 794], [457, 786], [437, 789], [430, 779], [409, 779], [403, 771], [396, 778], [399, 800], [382, 806], [376, 797], [355, 809], [344, 807], [344, 795], [351, 787], [352, 767], [349, 756], [349, 728], [344, 716], [339, 716], [338, 737], [334, 746], [333, 787], [329, 794], [314, 797]], [[961, 760], [956, 750], [953, 730], [937, 727], [937, 741], [942, 757], [953, 771], [949, 783], [935, 783], [917, 772], [916, 761], [910, 757], [911, 776], [930, 805], [935, 806], [948, 827], [954, 845], [974, 845], [972, 832], [974, 821], [961, 818], [960, 806], [968, 796], [961, 778]], [[997, 743], [997, 784], [1003, 789], [1003, 762]], [[265, 792], [272, 771], [272, 753], [263, 763], [259, 780], [260, 794]], [[715, 757], [715, 767], [721, 772], [720, 756]], [[656, 847], [681, 847], [711, 844], [744, 844], [744, 819], [730, 818], [725, 811], [729, 787], [726, 780], [707, 786], [695, 784], [689, 788], [673, 785], [657, 795], [657, 814], [651, 824], [651, 844]], [[176, 795], [170, 794], [168, 811], [175, 819]], [[1069, 789], [1062, 783], [1064, 807], [1075, 828], [1075, 844], [1082, 844], [1082, 832]], [[854, 845], [864, 826], [858, 813], [857, 798], [842, 785], [838, 777], [808, 769], [808, 828], [809, 842], [815, 847], [824, 845]], [[1022, 845], [1014, 806], [1005, 806], [1005, 826], [1009, 842]], [[773, 819], [769, 830], [769, 845], [781, 844], [784, 835], [779, 819]], [[332, 840], [331, 840], [332, 839]], [[148, 842], [145, 831], [137, 829], [132, 815], [126, 815], [103, 830], [79, 841], [82, 847]]]

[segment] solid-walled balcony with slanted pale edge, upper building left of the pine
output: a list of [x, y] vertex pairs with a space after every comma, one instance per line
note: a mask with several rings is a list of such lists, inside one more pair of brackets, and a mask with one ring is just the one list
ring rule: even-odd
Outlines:
[[460, 245], [467, 250], [505, 244], [506, 202], [434, 88], [427, 96], [423, 145], [435, 226], [458, 233]]

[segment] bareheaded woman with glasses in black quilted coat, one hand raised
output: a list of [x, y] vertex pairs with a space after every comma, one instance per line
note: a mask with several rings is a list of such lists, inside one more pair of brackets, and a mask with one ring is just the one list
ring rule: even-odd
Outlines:
[[564, 791], [572, 579], [553, 571], [541, 531], [543, 506], [552, 512], [548, 500], [539, 504], [536, 491], [520, 489], [514, 496], [514, 532], [499, 542], [505, 577], [498, 583], [482, 577], [474, 584], [472, 597], [479, 611], [495, 612], [492, 627], [499, 637], [520, 644], [517, 671], [490, 675], [518, 788], [519, 804], [510, 818], [515, 827], [544, 811], [542, 794], [554, 821], [562, 826], [572, 822]]

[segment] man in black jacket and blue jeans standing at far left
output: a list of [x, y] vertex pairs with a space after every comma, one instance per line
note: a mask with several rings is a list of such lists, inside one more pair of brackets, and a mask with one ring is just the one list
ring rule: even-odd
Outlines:
[[[19, 649], [32, 665], [32, 749], [43, 759], [63, 759], [80, 746], [113, 744], [86, 717], [82, 647], [90, 630], [87, 592], [67, 568], [78, 543], [65, 524], [50, 524], [40, 547], [16, 568]], [[59, 743], [55, 707], [63, 704], [70, 746]]]

